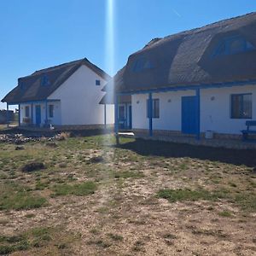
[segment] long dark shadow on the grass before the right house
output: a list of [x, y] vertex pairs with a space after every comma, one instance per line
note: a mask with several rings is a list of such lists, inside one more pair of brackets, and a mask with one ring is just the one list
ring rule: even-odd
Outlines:
[[195, 158], [200, 160], [219, 161], [236, 166], [244, 165], [256, 169], [255, 149], [228, 149], [195, 146], [182, 143], [166, 143], [137, 139], [131, 143], [124, 143], [119, 148], [129, 149], [143, 156], [162, 156], [168, 158]]

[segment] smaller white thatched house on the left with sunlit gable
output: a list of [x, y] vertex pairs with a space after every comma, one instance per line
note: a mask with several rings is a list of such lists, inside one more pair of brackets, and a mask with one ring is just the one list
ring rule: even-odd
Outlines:
[[18, 79], [2, 102], [19, 105], [20, 125], [112, 125], [113, 105], [99, 104], [110, 77], [87, 59]]

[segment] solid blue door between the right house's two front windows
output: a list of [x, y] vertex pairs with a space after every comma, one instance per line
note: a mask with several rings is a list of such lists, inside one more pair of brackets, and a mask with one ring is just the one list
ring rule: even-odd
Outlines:
[[182, 97], [182, 132], [196, 133], [196, 96]]

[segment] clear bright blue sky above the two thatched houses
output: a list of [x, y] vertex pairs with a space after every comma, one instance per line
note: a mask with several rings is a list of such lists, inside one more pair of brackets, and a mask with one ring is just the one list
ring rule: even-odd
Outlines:
[[113, 75], [152, 38], [256, 11], [254, 0], [113, 0], [110, 68], [107, 2], [0, 0], [0, 99], [38, 69], [86, 57]]

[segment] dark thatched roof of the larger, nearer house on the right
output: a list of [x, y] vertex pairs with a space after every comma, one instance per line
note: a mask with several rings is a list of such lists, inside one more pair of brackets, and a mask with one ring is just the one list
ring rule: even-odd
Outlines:
[[[232, 36], [245, 38], [254, 49], [212, 58], [220, 40]], [[126, 66], [115, 75], [115, 90], [132, 92], [256, 79], [255, 49], [256, 13], [218, 21], [166, 38], [154, 38], [143, 49], [130, 55]], [[138, 60], [148, 61], [148, 68], [136, 72]], [[108, 83], [107, 88], [112, 86], [113, 81]]]

